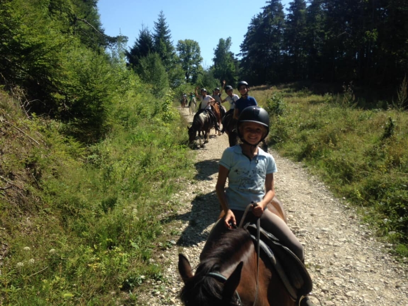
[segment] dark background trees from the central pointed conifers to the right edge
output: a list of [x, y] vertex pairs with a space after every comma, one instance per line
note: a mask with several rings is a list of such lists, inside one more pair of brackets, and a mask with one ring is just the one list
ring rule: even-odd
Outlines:
[[208, 80], [208, 76], [202, 78], [206, 73], [217, 84], [225, 79], [233, 85], [245, 79], [251, 85], [311, 81], [386, 87], [404, 78], [408, 68], [407, 2], [294, 0], [286, 10], [287, 14], [281, 0], [267, 1], [252, 17], [241, 53], [230, 51], [231, 37], [220, 38], [208, 71], [200, 66], [198, 42], [179, 41], [174, 54], [163, 12], [154, 33], [143, 28], [127, 56], [137, 67], [141, 56], [158, 53], [167, 71], [182, 65], [182, 81], [191, 83]]

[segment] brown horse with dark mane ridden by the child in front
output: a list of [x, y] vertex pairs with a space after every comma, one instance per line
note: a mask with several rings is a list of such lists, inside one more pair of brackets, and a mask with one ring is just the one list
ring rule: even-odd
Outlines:
[[[286, 221], [278, 202], [272, 201], [268, 209]], [[296, 305], [262, 252], [257, 268], [256, 248], [243, 228], [226, 230], [202, 255], [193, 275], [189, 261], [179, 254], [185, 284], [181, 299], [186, 306]]]

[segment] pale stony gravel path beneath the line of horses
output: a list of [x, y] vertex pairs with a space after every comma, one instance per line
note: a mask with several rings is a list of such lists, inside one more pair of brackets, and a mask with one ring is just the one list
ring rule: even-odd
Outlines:
[[[188, 110], [183, 112], [191, 122]], [[195, 180], [174, 195], [180, 202], [176, 220], [167, 234], [175, 246], [161, 251], [157, 261], [165, 267], [165, 282], [153, 282], [143, 292], [144, 305], [182, 305], [177, 297], [183, 282], [177, 271], [177, 254], [185, 254], [192, 265], [219, 213], [215, 194], [218, 160], [228, 146], [226, 135], [210, 136], [210, 142], [198, 149]], [[375, 241], [345, 200], [335, 198], [316, 177], [301, 164], [274, 156], [276, 194], [283, 202], [288, 223], [305, 248], [305, 264], [313, 279], [313, 293], [322, 305], [408, 306], [408, 267], [387, 253], [390, 245]], [[150, 282], [150, 281], [147, 281]], [[319, 305], [316, 298], [312, 300]]]

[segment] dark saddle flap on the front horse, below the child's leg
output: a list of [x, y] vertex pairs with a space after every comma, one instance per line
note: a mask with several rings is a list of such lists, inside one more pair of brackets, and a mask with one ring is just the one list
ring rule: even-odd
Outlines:
[[[255, 224], [246, 225], [246, 229], [256, 242], [257, 227]], [[271, 264], [282, 279], [286, 289], [293, 299], [309, 294], [313, 289], [312, 278], [297, 256], [272, 234], [260, 229], [260, 246], [271, 259]], [[272, 253], [272, 256], [271, 254]], [[273, 258], [273, 259], [272, 259]]]

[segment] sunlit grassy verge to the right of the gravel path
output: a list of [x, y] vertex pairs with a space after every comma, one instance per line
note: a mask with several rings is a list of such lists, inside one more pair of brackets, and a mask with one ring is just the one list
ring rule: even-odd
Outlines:
[[408, 257], [408, 113], [363, 110], [342, 95], [256, 88], [272, 117], [269, 142], [358, 207], [381, 239]]

